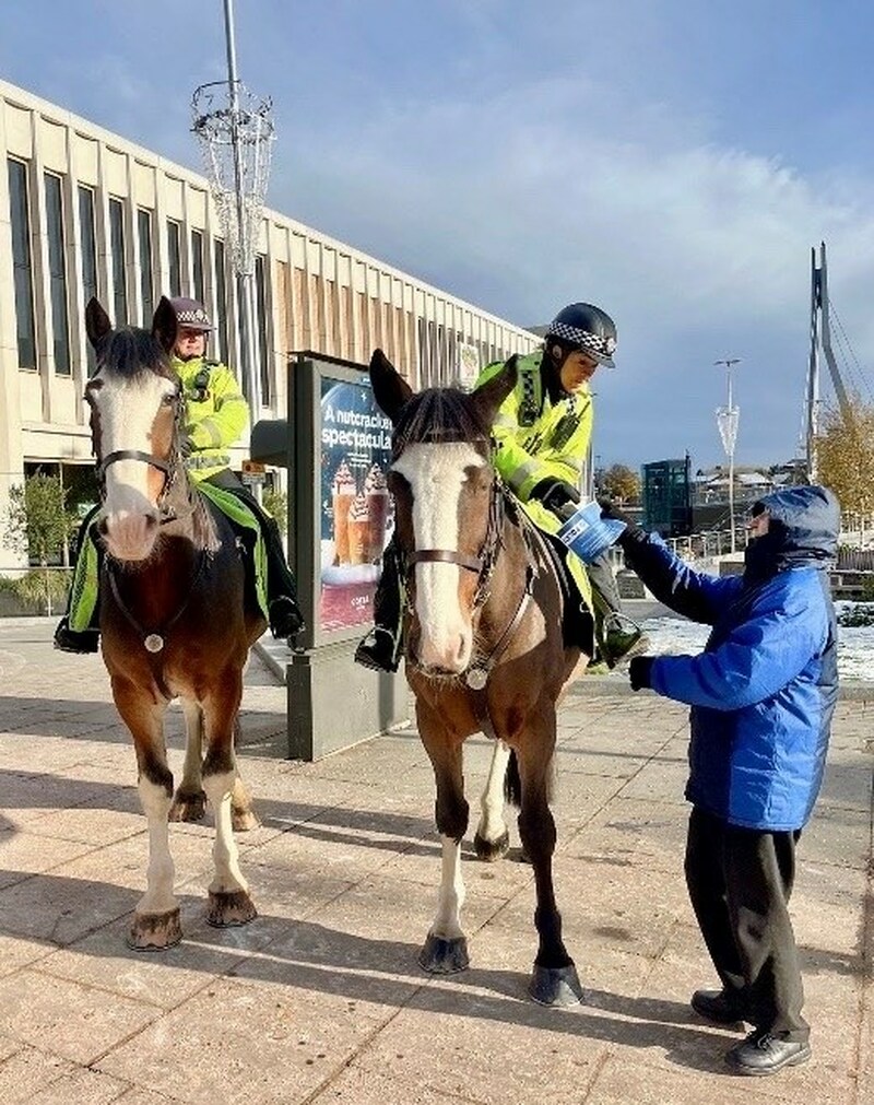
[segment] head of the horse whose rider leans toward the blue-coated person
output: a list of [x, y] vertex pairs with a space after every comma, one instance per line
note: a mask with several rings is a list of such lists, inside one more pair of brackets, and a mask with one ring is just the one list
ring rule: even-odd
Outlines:
[[481, 583], [499, 537], [491, 431], [516, 381], [515, 358], [470, 394], [414, 396], [381, 349], [370, 379], [394, 427], [389, 487], [411, 600], [409, 656], [427, 672], [456, 675], [473, 654]]

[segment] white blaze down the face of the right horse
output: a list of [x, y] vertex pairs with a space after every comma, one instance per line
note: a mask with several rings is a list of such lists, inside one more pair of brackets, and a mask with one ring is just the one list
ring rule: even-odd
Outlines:
[[[413, 493], [412, 522], [418, 549], [459, 548], [459, 498], [465, 470], [486, 461], [468, 444], [415, 444], [392, 465]], [[418, 564], [415, 612], [421, 656], [427, 666], [462, 672], [473, 648], [470, 620], [459, 604], [459, 572], [453, 564]]]

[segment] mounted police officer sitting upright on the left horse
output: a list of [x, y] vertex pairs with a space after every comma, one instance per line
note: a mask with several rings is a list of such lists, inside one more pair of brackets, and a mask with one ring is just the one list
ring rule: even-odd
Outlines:
[[[207, 340], [213, 326], [203, 304], [179, 296], [170, 299], [178, 330], [172, 352], [172, 368], [186, 398], [186, 432], [181, 444], [185, 465], [194, 484], [210, 483], [230, 492], [255, 515], [264, 538], [267, 561], [267, 613], [276, 638], [294, 638], [304, 619], [297, 604], [297, 589], [282, 547], [278, 526], [249, 490], [231, 471], [230, 446], [249, 422], [249, 403], [227, 365], [207, 359]], [[91, 524], [99, 507], [84, 519], [78, 547], [93, 540]], [[96, 594], [77, 577], [85, 558], [76, 560], [70, 607], [55, 630], [55, 648], [64, 652], [96, 652], [99, 629]]]

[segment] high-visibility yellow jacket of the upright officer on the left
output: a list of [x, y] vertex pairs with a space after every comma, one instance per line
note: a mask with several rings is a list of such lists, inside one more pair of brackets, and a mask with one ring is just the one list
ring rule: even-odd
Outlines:
[[230, 465], [230, 448], [249, 424], [249, 403], [227, 365], [202, 357], [173, 357], [172, 366], [186, 397], [186, 429], [191, 442], [186, 469], [199, 483]]

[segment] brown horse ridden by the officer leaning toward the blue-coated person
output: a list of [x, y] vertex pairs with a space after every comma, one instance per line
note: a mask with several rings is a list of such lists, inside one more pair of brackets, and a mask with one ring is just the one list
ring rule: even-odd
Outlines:
[[506, 850], [495, 779], [503, 779], [508, 748], [508, 780], [515, 780], [508, 797], [520, 800], [519, 834], [537, 892], [539, 945], [529, 992], [544, 1004], [570, 1004], [581, 990], [561, 939], [548, 803], [556, 702], [588, 657], [565, 645], [562, 589], [545, 538], [489, 463], [491, 425], [514, 387], [515, 360], [471, 394], [445, 388], [413, 396], [377, 349], [370, 379], [393, 424], [389, 486], [406, 570], [407, 678], [434, 768], [443, 845], [438, 912], [419, 961], [433, 972], [463, 970], [468, 962], [460, 919], [468, 815], [462, 758], [466, 737], [482, 730], [499, 750], [477, 851], [491, 859]]

